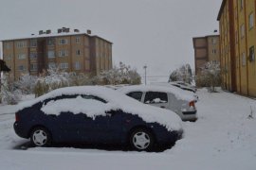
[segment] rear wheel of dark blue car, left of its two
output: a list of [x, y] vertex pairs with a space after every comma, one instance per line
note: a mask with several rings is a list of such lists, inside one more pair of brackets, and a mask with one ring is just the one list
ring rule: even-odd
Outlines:
[[50, 133], [45, 127], [35, 127], [30, 134], [30, 141], [35, 146], [50, 144]]

